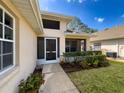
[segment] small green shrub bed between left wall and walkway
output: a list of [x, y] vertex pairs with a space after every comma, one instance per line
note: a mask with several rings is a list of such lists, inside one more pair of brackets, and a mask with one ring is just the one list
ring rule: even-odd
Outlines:
[[19, 93], [38, 93], [43, 83], [42, 69], [35, 69], [26, 80], [20, 81]]

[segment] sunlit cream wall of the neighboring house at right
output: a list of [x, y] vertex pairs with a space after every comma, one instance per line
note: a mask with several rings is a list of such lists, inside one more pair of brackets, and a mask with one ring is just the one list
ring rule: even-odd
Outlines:
[[[104, 40], [97, 42], [101, 43], [102, 51], [117, 52], [120, 57], [124, 57], [124, 39]], [[93, 43], [97, 42], [92, 42], [91, 45], [93, 46]]]

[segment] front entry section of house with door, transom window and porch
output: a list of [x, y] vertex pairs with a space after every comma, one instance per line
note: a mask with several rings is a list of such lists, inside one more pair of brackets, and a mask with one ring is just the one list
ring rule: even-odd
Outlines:
[[41, 11], [41, 17], [44, 33], [37, 38], [39, 64], [60, 62], [64, 52], [88, 49], [88, 34], [68, 32], [66, 29], [67, 24], [73, 19], [72, 16]]

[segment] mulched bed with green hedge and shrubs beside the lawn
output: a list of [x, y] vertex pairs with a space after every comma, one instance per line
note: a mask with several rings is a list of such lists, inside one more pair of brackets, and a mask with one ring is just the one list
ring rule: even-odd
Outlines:
[[67, 52], [63, 54], [60, 64], [65, 72], [109, 66], [101, 51]]

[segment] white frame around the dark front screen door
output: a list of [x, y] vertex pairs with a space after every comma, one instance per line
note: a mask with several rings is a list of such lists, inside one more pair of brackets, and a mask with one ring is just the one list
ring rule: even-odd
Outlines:
[[[46, 60], [46, 40], [47, 39], [54, 39], [54, 40], [56, 40], [56, 51], [54, 51], [54, 52], [56, 52], [56, 60], [49, 60], [49, 61], [47, 61]], [[57, 63], [58, 62], [58, 57], [57, 57], [57, 55], [58, 55], [58, 46], [57, 46], [57, 44], [58, 44], [58, 42], [57, 42], [57, 38], [49, 38], [49, 37], [46, 37], [45, 39], [44, 39], [44, 57], [45, 57], [45, 63], [47, 64], [47, 63]]]

